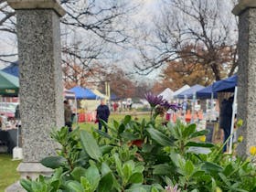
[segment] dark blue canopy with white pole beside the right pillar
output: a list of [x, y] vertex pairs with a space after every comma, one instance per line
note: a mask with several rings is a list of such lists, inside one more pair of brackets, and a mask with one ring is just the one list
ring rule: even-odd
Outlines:
[[[234, 133], [234, 122], [235, 122], [235, 106], [237, 103], [237, 95], [238, 95], [238, 76], [233, 75], [225, 80], [218, 80], [213, 83], [212, 90], [216, 92], [234, 92], [234, 101], [233, 101], [233, 111], [232, 111], [232, 121], [230, 127], [230, 135]], [[230, 137], [229, 140], [229, 154], [232, 153], [232, 144], [233, 137]]]

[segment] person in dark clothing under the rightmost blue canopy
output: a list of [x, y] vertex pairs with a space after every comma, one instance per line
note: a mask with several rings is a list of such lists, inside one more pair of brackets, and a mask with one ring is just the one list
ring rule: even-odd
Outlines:
[[[220, 110], [220, 123], [219, 127], [224, 132], [224, 142], [227, 141], [231, 131], [232, 112], [233, 112], [234, 97], [229, 97], [229, 100], [223, 100], [221, 102]], [[227, 151], [227, 144], [223, 147], [223, 152]]]

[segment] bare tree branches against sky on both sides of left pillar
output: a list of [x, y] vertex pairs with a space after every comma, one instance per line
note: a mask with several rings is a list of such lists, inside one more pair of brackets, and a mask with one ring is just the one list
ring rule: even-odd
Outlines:
[[[64, 67], [78, 64], [90, 70], [97, 62], [112, 59], [114, 51], [129, 43], [133, 29], [129, 16], [138, 5], [129, 0], [61, 0], [66, 10], [61, 18], [62, 61]], [[16, 35], [15, 11], [0, 0], [0, 33]], [[0, 50], [1, 51], [1, 50]], [[2, 54], [0, 59], [9, 56]]]

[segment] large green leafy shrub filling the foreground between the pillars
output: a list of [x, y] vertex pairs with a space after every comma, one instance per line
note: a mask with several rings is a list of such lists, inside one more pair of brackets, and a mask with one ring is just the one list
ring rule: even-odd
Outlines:
[[110, 135], [69, 133], [67, 127], [55, 131], [51, 137], [61, 145], [58, 155], [41, 162], [54, 174], [22, 179], [21, 185], [28, 192], [256, 191], [250, 159], [225, 155], [223, 145], [200, 141], [208, 132], [197, 131], [195, 124], [155, 123], [158, 102], [150, 121], [127, 115], [108, 124]]

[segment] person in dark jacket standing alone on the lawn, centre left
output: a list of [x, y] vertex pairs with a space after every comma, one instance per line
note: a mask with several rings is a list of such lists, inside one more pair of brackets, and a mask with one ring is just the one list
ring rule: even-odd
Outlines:
[[[109, 107], [105, 104], [105, 100], [101, 99], [101, 104], [97, 107], [96, 110], [96, 117], [99, 123], [99, 130], [101, 130], [102, 124], [100, 120], [103, 120], [104, 122], [108, 123], [109, 116], [110, 116], [110, 109]], [[108, 133], [108, 127], [104, 126], [105, 132]]]

